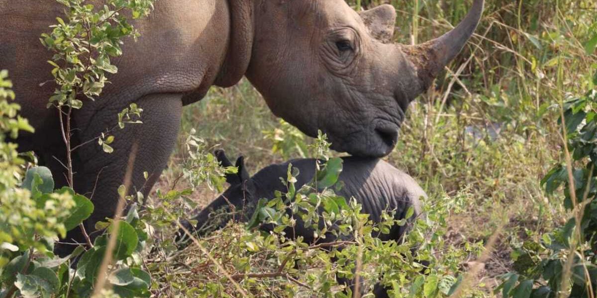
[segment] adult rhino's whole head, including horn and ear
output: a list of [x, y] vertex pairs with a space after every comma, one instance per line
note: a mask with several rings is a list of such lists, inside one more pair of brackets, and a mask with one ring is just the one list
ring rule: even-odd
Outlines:
[[[227, 72], [244, 70], [236, 73], [248, 77], [272, 112], [305, 134], [321, 129], [334, 150], [367, 157], [392, 151], [408, 104], [460, 52], [484, 6], [474, 0], [456, 28], [411, 46], [391, 42], [392, 5], [356, 13], [344, 0], [229, 1]], [[217, 83], [236, 81], [222, 76]]]

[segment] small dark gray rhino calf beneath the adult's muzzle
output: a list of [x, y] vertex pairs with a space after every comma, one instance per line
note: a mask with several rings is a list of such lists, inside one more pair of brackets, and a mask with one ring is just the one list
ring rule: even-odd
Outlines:
[[[223, 151], [216, 151], [216, 156], [223, 166], [232, 165]], [[272, 199], [275, 197], [275, 191], [287, 192], [286, 185], [282, 184], [279, 178], [287, 176], [289, 163], [299, 170], [295, 184], [297, 190], [312, 181], [315, 176], [315, 159], [295, 159], [281, 164], [272, 164], [249, 178], [243, 158], [239, 157], [236, 161], [236, 166], [239, 169], [238, 175], [226, 176], [230, 187], [194, 218], [197, 221], [194, 230], [197, 234], [204, 235], [208, 231], [213, 231], [214, 228], [223, 228], [230, 219], [248, 221], [260, 198]], [[399, 220], [405, 218], [409, 207], [414, 208], [413, 216], [408, 219], [406, 225], [395, 225], [390, 229], [389, 234], [376, 235], [383, 241], [401, 240], [405, 232], [411, 228], [412, 220], [421, 215], [419, 198], [427, 196], [411, 176], [380, 159], [343, 157], [343, 170], [340, 173], [339, 181], [343, 182], [344, 187], [337, 194], [345, 198], [354, 197], [358, 203], [362, 204], [362, 213], [369, 214], [374, 223], [381, 221], [381, 213], [384, 211], [395, 211], [395, 219]], [[231, 212], [230, 204], [234, 206], [233, 212]], [[292, 216], [290, 210], [288, 210], [288, 214]], [[295, 219], [296, 226], [285, 229], [287, 236], [290, 238], [300, 236], [303, 237], [305, 243], [314, 243], [313, 229], [305, 227], [300, 218]], [[189, 224], [186, 224], [186, 228], [193, 230]], [[272, 228], [273, 226], [261, 226], [261, 229], [266, 231], [270, 231]], [[184, 232], [179, 231], [179, 235], [182, 234]], [[328, 233], [325, 239], [319, 239], [318, 242], [336, 240], [337, 238], [333, 234]], [[344, 237], [343, 240], [350, 240], [350, 238]], [[339, 281], [352, 284], [346, 280]], [[376, 285], [374, 293], [376, 297], [387, 297], [386, 289], [381, 285]]]

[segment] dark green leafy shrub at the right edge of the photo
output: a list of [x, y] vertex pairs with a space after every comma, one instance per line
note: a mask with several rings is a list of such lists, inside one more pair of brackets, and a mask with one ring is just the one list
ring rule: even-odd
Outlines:
[[[597, 73], [594, 77], [597, 85]], [[567, 141], [566, 163], [541, 180], [554, 194], [564, 185], [561, 201], [570, 218], [562, 226], [526, 240], [513, 253], [515, 272], [504, 275], [504, 297], [595, 297], [597, 287], [597, 91], [571, 98], [562, 107], [560, 124]]]

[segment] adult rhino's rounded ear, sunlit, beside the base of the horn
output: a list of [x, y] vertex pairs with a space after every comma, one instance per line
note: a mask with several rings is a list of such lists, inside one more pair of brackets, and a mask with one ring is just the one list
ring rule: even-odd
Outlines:
[[392, 41], [396, 24], [396, 10], [384, 4], [359, 13], [373, 38], [383, 43]]

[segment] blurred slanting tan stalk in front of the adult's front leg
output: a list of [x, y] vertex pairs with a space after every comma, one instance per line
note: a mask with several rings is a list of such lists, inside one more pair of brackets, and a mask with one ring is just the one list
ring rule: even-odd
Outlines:
[[137, 149], [139, 148], [138, 146], [139, 144], [137, 144], [137, 142], [134, 142], [133, 146], [131, 147], [131, 154], [128, 156], [127, 172], [125, 172], [124, 175], [125, 191], [120, 195], [118, 199], [118, 205], [116, 205], [116, 214], [114, 215], [111, 226], [112, 234], [110, 234], [110, 238], [106, 246], [106, 253], [104, 254], [103, 260], [101, 261], [100, 271], [97, 274], [97, 281], [91, 297], [100, 297], [101, 290], [106, 285], [108, 266], [110, 266], [110, 263], [112, 263], [112, 252], [116, 247], [116, 238], [118, 238], [120, 218], [122, 217], [122, 212], [126, 203], [124, 196], [127, 195], [128, 189], [131, 185], [131, 176], [133, 176], [133, 166], [135, 163], [135, 158], [137, 157]]

